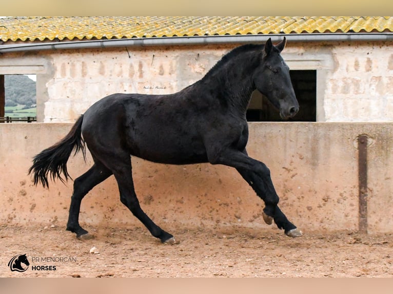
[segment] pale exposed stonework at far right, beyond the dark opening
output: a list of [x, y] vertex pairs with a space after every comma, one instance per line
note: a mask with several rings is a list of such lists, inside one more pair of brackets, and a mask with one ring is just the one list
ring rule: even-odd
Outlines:
[[390, 43], [342, 43], [332, 50], [337, 67], [327, 80], [328, 121], [393, 119], [393, 53]]

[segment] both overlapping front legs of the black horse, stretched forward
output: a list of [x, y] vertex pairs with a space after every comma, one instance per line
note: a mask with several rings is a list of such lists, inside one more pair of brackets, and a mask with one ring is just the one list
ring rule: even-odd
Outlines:
[[280, 229], [284, 229], [286, 235], [290, 237], [302, 235], [301, 231], [286, 218], [278, 207], [279, 197], [271, 181], [270, 171], [263, 162], [249, 157], [245, 150], [242, 152], [234, 149], [221, 151], [216, 156], [209, 157], [209, 161], [212, 164], [232, 166], [238, 170], [257, 195], [265, 202], [263, 212], [266, 223], [270, 224], [271, 218], [273, 218], [277, 226]]

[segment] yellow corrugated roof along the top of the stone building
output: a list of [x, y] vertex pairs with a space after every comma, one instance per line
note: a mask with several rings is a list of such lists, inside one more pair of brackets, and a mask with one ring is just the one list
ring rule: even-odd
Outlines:
[[0, 40], [392, 32], [387, 16], [74, 16], [0, 18]]

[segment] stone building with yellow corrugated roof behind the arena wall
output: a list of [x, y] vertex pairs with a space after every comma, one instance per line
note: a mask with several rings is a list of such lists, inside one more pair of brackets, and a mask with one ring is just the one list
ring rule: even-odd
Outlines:
[[[173, 93], [234, 47], [285, 36], [294, 120], [391, 121], [392, 31], [393, 17], [6, 17], [0, 77], [36, 75], [37, 121], [72, 122], [108, 94]], [[247, 115], [279, 120], [257, 92]]]

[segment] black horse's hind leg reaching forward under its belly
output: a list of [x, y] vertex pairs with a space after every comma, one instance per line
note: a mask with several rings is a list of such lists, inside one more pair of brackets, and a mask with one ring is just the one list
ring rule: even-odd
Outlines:
[[[119, 154], [117, 154], [119, 155]], [[120, 200], [127, 206], [131, 213], [139, 219], [150, 231], [151, 235], [159, 238], [163, 243], [174, 243], [171, 234], [165, 232], [156, 225], [142, 210], [139, 200], [136, 198], [134, 184], [132, 181], [131, 158], [129, 154], [107, 158], [105, 164], [111, 169], [117, 184], [119, 185]]]

